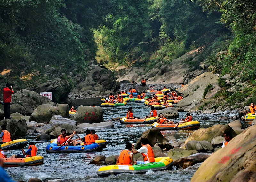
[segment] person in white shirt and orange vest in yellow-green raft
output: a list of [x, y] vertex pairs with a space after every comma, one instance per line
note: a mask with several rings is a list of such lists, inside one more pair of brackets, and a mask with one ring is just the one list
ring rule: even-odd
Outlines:
[[142, 147], [137, 151], [134, 150], [134, 144], [132, 144], [132, 153], [137, 154], [140, 152], [144, 157], [144, 162], [143, 161], [134, 161], [134, 162], [136, 162], [137, 164], [147, 164], [147, 163], [155, 162], [154, 152], [152, 147], [149, 145], [149, 143], [150, 142], [148, 141], [147, 138], [141, 138], [140, 144]]

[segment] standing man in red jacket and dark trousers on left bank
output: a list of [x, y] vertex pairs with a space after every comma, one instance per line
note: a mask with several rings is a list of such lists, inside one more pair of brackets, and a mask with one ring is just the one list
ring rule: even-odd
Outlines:
[[3, 89], [3, 96], [4, 96], [4, 117], [5, 119], [11, 119], [10, 117], [10, 106], [11, 106], [11, 94], [13, 94], [14, 91], [12, 89], [12, 86], [10, 83], [6, 84], [6, 87]]

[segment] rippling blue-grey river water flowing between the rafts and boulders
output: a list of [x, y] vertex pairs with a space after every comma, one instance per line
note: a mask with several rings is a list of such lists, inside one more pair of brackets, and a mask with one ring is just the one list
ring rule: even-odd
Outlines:
[[[90, 106], [95, 103], [97, 106], [101, 104], [100, 98], [95, 99], [81, 99], [75, 100], [77, 106], [84, 105]], [[150, 107], [144, 106], [143, 103], [128, 102], [127, 106], [122, 107], [107, 107], [103, 108], [103, 116], [105, 121], [111, 120], [116, 117], [126, 117], [128, 107], [132, 106], [133, 114], [135, 117], [144, 117], [150, 113]], [[159, 113], [159, 111], [158, 111]], [[180, 117], [184, 118], [186, 113], [179, 112]], [[222, 115], [206, 115], [209, 120], [201, 120], [205, 116], [193, 115], [193, 120], [200, 121], [201, 127], [207, 128], [217, 123], [228, 124], [231, 120], [219, 120]], [[176, 119], [179, 121], [179, 119]], [[243, 126], [247, 127], [247, 125]], [[122, 125], [120, 122], [114, 122], [114, 128], [104, 128], [96, 130], [99, 139], [104, 139], [108, 142], [107, 148], [104, 148], [102, 152], [92, 153], [68, 153], [68, 154], [47, 154], [45, 147], [49, 144], [49, 141], [37, 142], [38, 148], [37, 154], [44, 157], [44, 164], [39, 166], [22, 166], [22, 167], [10, 167], [5, 168], [7, 173], [14, 180], [28, 181], [29, 178], [39, 178], [42, 181], [63, 179], [62, 181], [74, 182], [74, 181], [190, 181], [196, 169], [188, 170], [176, 170], [174, 167], [172, 170], [164, 171], [148, 171], [146, 174], [130, 175], [120, 174], [117, 176], [98, 177], [97, 170], [101, 167], [98, 165], [88, 165], [89, 162], [96, 155], [118, 155], [119, 152], [125, 148], [125, 142], [135, 143], [142, 132], [151, 128], [151, 125]], [[161, 131], [164, 136], [172, 135], [176, 139], [183, 139], [188, 137], [193, 130], [169, 130]], [[28, 135], [25, 138], [28, 142], [35, 141], [36, 135]], [[82, 138], [85, 134], [79, 134]], [[25, 148], [25, 151], [28, 146]], [[20, 150], [6, 151], [7, 156], [11, 154], [21, 154]]]

